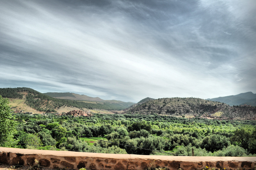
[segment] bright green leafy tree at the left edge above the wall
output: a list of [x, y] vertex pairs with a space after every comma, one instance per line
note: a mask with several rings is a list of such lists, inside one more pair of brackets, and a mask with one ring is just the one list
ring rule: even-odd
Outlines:
[[[2, 98], [0, 95], [0, 116], [7, 118], [14, 118], [11, 114], [11, 108], [9, 106], [9, 100], [7, 98]], [[13, 134], [16, 132], [15, 126], [16, 121], [0, 117], [0, 146], [10, 147], [15, 145], [15, 139]], [[10, 141], [10, 142], [9, 142]]]

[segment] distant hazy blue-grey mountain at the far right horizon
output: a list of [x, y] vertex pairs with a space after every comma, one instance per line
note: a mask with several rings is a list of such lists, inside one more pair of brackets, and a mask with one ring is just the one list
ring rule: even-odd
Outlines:
[[211, 100], [215, 102], [223, 102], [230, 106], [239, 106], [239, 105], [252, 105], [256, 106], [256, 94], [252, 92], [246, 92], [246, 93], [240, 93], [238, 95], [231, 95], [231, 96], [225, 96], [225, 97], [218, 97], [213, 99], [206, 99]]

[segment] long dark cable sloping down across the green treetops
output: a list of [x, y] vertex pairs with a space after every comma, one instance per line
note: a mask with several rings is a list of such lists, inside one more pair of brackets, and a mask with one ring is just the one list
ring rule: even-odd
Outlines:
[[[22, 122], [22, 121], [19, 121], [19, 120], [7, 118], [7, 117], [1, 116], [1, 115], [0, 115], [0, 117], [6, 118], [6, 119], [10, 119], [10, 120], [13, 120], [13, 121], [17, 121], [17, 122], [21, 122], [21, 123], [24, 123], [24, 124], [29, 124], [29, 125], [37, 126], [37, 127], [40, 127], [40, 128], [46, 128], [46, 127], [41, 127], [41, 126], [38, 126], [38, 125]], [[78, 135], [78, 134], [68, 133], [68, 132], [64, 132], [64, 131], [60, 131], [60, 130], [56, 130], [56, 129], [51, 129], [51, 128], [46, 128], [46, 129], [55, 130], [55, 131], [66, 133], [66, 134], [72, 134], [72, 135], [75, 135], [75, 136], [86, 137], [86, 136], [81, 136], [81, 135]], [[94, 138], [91, 138], [91, 137], [86, 137], [86, 138], [94, 139]], [[179, 155], [179, 154], [175, 154], [175, 153], [168, 153], [168, 152], [162, 152], [162, 151], [158, 151], [158, 150], [141, 148], [141, 147], [137, 147], [137, 146], [129, 146], [129, 145], [121, 144], [121, 143], [115, 143], [115, 142], [110, 142], [110, 141], [105, 141], [105, 140], [100, 140], [100, 139], [94, 139], [94, 140], [99, 140], [99, 141], [108, 142], [108, 143], [117, 144], [117, 145], [122, 145], [122, 146], [127, 146], [127, 147], [133, 147], [133, 148], [137, 148], [137, 149], [144, 149], [144, 150], [149, 150], [149, 151], [167, 153], [167, 154], [172, 154], [172, 155], [177, 155], [177, 156], [186, 156], [186, 155]]]

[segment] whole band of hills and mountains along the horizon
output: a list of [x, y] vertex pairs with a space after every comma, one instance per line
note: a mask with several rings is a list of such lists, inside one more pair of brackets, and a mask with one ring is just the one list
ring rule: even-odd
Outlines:
[[[245, 100], [253, 101], [252, 92], [241, 93], [235, 96], [216, 98], [219, 101], [204, 100], [200, 98], [145, 98], [138, 103], [122, 102], [117, 100], [103, 100], [98, 97], [89, 97], [75, 93], [40, 93], [31, 88], [0, 88], [0, 95], [11, 100], [12, 104], [19, 102], [19, 109], [34, 109], [35, 113], [60, 112], [70, 110], [109, 110], [113, 113], [123, 114], [160, 114], [170, 116], [225, 116], [237, 119], [256, 119], [256, 107], [231, 107], [224, 102], [239, 99], [243, 104]], [[24, 106], [24, 107], [23, 107]], [[14, 107], [16, 108], [16, 107]], [[114, 112], [114, 110], [120, 110]], [[123, 111], [121, 111], [123, 110]], [[112, 112], [111, 111], [111, 112]], [[97, 112], [96, 112], [97, 113]]]

